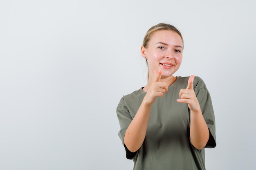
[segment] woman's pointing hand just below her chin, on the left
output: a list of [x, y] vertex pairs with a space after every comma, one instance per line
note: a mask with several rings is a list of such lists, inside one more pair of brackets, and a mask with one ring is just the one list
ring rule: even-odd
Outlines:
[[161, 82], [161, 70], [154, 70], [155, 76], [151, 86], [148, 88], [148, 92], [144, 97], [144, 101], [148, 104], [153, 104], [156, 97], [163, 97], [164, 93], [168, 91], [168, 85]]

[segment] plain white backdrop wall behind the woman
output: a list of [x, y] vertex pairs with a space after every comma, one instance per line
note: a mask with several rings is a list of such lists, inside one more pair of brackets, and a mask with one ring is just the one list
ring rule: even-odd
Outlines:
[[253, 0], [0, 0], [0, 170], [131, 170], [120, 98], [146, 85], [143, 37], [184, 37], [175, 76], [200, 76], [216, 116], [207, 170], [256, 167]]

